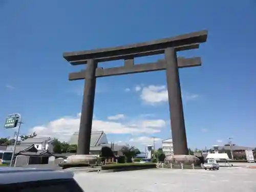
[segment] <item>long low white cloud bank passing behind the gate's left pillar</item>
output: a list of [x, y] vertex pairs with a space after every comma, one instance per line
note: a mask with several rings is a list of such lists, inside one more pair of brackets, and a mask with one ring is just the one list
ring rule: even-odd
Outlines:
[[[31, 132], [36, 132], [38, 136], [56, 137], [61, 141], [68, 141], [70, 136], [77, 132], [80, 124], [80, 114], [76, 117], [62, 117], [53, 120], [45, 125], [31, 128]], [[113, 122], [93, 119], [93, 130], [104, 131], [111, 134], [155, 134], [161, 132], [165, 126], [162, 119], [135, 120], [129, 122]]]

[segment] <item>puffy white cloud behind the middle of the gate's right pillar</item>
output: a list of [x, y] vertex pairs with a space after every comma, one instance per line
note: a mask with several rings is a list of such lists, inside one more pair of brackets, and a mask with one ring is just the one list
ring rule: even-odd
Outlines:
[[[184, 101], [195, 100], [199, 97], [197, 94], [183, 92], [182, 98]], [[168, 101], [168, 93], [166, 86], [146, 86], [141, 89], [140, 98], [148, 104], [156, 104]]]

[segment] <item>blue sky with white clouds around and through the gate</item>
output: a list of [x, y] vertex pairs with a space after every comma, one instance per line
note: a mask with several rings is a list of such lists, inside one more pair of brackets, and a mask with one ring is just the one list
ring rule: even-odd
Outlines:
[[[3, 126], [5, 117], [17, 112], [23, 116], [22, 134], [68, 140], [78, 129], [84, 81], [68, 81], [68, 74], [84, 66], [71, 66], [62, 52], [207, 29], [200, 49], [178, 53], [203, 61], [202, 67], [180, 70], [188, 145], [210, 147], [233, 137], [234, 143], [256, 146], [256, 1], [2, 0], [0, 24]], [[140, 148], [154, 136], [159, 145], [170, 137], [165, 84], [164, 71], [97, 79], [94, 130]], [[13, 132], [2, 128], [0, 137]]]

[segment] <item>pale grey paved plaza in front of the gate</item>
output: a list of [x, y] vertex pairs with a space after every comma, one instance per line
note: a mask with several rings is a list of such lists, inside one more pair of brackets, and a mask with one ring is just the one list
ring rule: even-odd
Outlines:
[[[248, 165], [248, 164], [247, 164]], [[90, 192], [155, 191], [256, 191], [256, 169], [221, 167], [204, 169], [147, 169], [116, 173], [75, 173], [75, 179]]]

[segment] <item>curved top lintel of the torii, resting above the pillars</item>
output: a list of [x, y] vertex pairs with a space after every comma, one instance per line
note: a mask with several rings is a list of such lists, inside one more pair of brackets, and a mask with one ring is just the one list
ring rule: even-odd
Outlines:
[[86, 64], [88, 59], [96, 59], [98, 62], [103, 62], [162, 54], [164, 53], [164, 49], [169, 47], [174, 47], [176, 51], [197, 49], [200, 43], [206, 41], [207, 34], [207, 30], [203, 30], [127, 46], [65, 52], [63, 53], [63, 57], [69, 61], [71, 65], [81, 65]]

